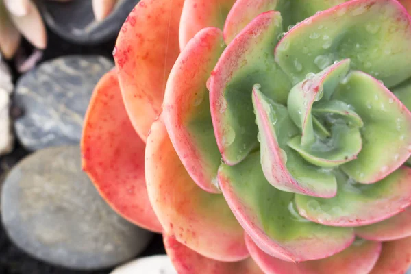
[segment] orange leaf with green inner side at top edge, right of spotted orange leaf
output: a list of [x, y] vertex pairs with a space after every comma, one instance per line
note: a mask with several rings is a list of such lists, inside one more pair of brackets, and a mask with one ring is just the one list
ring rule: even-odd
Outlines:
[[235, 0], [185, 0], [179, 25], [179, 47], [182, 51], [188, 41], [201, 29], [223, 29], [225, 18]]

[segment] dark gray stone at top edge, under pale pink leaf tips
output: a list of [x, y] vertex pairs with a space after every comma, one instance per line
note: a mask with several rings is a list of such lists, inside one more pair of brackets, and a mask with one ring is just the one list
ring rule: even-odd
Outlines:
[[115, 38], [138, 0], [120, 0], [113, 12], [95, 21], [91, 0], [39, 1], [40, 11], [53, 32], [79, 44], [97, 44]]

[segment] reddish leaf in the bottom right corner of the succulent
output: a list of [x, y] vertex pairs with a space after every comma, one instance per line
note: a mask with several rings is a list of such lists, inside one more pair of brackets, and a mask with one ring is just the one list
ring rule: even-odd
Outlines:
[[370, 274], [402, 274], [411, 262], [411, 237], [382, 244], [381, 256]]

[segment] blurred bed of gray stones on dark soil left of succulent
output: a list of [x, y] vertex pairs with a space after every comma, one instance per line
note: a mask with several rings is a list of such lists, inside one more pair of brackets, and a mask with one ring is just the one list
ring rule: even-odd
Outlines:
[[164, 254], [160, 234], [99, 197], [79, 153], [92, 90], [138, 0], [13, 1], [0, 0], [0, 273], [112, 273]]

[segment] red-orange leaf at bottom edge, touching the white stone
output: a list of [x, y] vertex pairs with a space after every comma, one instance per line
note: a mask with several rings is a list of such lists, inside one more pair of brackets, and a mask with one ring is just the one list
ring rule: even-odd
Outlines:
[[172, 236], [164, 234], [164, 247], [171, 262], [179, 274], [262, 274], [251, 258], [239, 262], [221, 262], [201, 256], [178, 242]]

